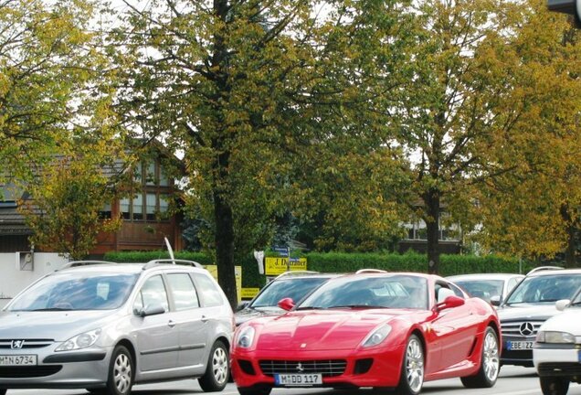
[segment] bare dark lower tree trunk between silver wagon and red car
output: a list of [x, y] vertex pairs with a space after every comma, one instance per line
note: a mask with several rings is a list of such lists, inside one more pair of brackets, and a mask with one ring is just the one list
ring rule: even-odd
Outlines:
[[216, 217], [216, 264], [218, 283], [226, 294], [232, 309], [238, 304], [236, 274], [234, 272], [234, 217], [232, 208], [220, 195], [214, 193]]

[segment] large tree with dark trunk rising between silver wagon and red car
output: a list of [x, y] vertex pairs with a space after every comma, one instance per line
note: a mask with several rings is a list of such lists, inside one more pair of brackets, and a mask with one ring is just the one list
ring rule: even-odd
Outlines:
[[357, 119], [386, 133], [365, 117], [379, 118], [375, 80], [389, 91], [407, 69], [394, 48], [406, 47], [411, 16], [396, 1], [125, 4], [120, 112], [184, 152], [190, 204], [214, 226], [219, 283], [234, 305], [235, 254], [272, 236], [304, 148], [352, 133]]

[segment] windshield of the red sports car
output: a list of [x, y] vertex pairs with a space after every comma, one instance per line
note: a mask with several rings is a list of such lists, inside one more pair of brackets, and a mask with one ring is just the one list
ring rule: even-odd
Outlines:
[[333, 307], [428, 309], [428, 281], [406, 274], [342, 277], [323, 284], [297, 308]]

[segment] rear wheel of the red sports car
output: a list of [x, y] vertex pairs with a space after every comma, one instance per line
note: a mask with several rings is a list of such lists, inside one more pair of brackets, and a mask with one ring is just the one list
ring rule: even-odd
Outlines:
[[482, 340], [481, 367], [474, 376], [460, 378], [466, 388], [491, 388], [501, 371], [498, 336], [491, 326], [486, 328]]

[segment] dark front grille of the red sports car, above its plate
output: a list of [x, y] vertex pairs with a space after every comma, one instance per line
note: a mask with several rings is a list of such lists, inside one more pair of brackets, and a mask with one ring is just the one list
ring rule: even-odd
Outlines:
[[261, 360], [262, 373], [273, 376], [275, 373], [312, 373], [322, 377], [341, 376], [347, 367], [345, 359], [323, 360]]

